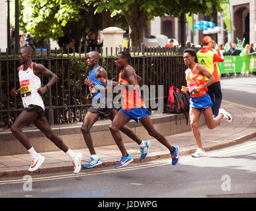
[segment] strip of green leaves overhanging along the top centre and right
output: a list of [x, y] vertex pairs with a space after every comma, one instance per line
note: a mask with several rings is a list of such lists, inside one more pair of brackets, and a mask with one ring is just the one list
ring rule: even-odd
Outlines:
[[[140, 11], [147, 13], [148, 19], [151, 20], [155, 16], [173, 15], [180, 17], [182, 13], [204, 14], [211, 16], [216, 11], [222, 11], [219, 0], [103, 0], [95, 2], [97, 12], [101, 13], [105, 9], [110, 10], [112, 14], [117, 11], [128, 11], [132, 15], [132, 5], [138, 3]], [[134, 14], [133, 14], [134, 15]]]

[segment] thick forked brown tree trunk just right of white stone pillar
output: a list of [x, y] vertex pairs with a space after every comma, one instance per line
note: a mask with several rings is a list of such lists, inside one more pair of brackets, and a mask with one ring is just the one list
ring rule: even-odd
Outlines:
[[140, 11], [140, 5], [138, 1], [134, 1], [132, 4], [132, 14], [129, 15], [127, 11], [122, 11], [126, 21], [130, 26], [130, 41], [131, 47], [140, 47], [143, 42], [143, 27], [146, 22], [147, 14], [144, 11]]

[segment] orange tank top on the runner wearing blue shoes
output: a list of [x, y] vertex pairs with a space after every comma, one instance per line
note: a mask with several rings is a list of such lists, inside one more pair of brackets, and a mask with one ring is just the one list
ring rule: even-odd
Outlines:
[[[120, 82], [120, 84], [130, 84], [127, 80], [124, 80], [124, 78], [122, 78], [122, 73], [124, 71], [120, 71], [118, 77], [119, 80], [118, 82]], [[136, 90], [126, 90], [125, 88], [122, 88], [122, 86], [120, 86], [120, 90], [122, 92], [122, 108], [126, 111], [129, 111], [131, 109], [134, 109], [135, 107], [144, 107], [146, 108], [144, 101], [141, 98], [140, 95], [140, 89], [138, 84], [135, 85], [136, 86]]]

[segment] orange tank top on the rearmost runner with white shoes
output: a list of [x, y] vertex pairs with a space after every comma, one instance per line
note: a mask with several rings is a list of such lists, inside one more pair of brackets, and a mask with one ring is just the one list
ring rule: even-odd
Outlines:
[[[194, 88], [201, 86], [202, 84], [205, 83], [205, 76], [196, 73], [197, 65], [198, 65], [198, 63], [196, 63], [196, 65], [194, 65], [192, 71], [191, 71], [191, 69], [187, 69], [187, 71], [185, 72], [186, 73], [186, 82], [187, 82], [187, 86], [189, 88], [189, 92], [191, 92], [191, 90], [193, 90]], [[204, 94], [206, 94], [207, 90], [208, 90], [207, 88], [203, 88], [202, 90], [200, 90], [200, 92], [198, 92], [196, 94], [191, 94], [191, 97], [196, 98], [196, 97], [203, 96]]]

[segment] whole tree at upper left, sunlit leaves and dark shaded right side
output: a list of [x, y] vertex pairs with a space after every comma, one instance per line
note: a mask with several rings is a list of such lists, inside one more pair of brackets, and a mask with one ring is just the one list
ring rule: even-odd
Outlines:
[[108, 20], [105, 26], [111, 24], [109, 12], [95, 14], [95, 9], [84, 0], [22, 0], [21, 15], [24, 30], [34, 34], [36, 40], [65, 37], [62, 41], [74, 39], [75, 47], [79, 47], [85, 32], [97, 34], [102, 28], [102, 17]]

